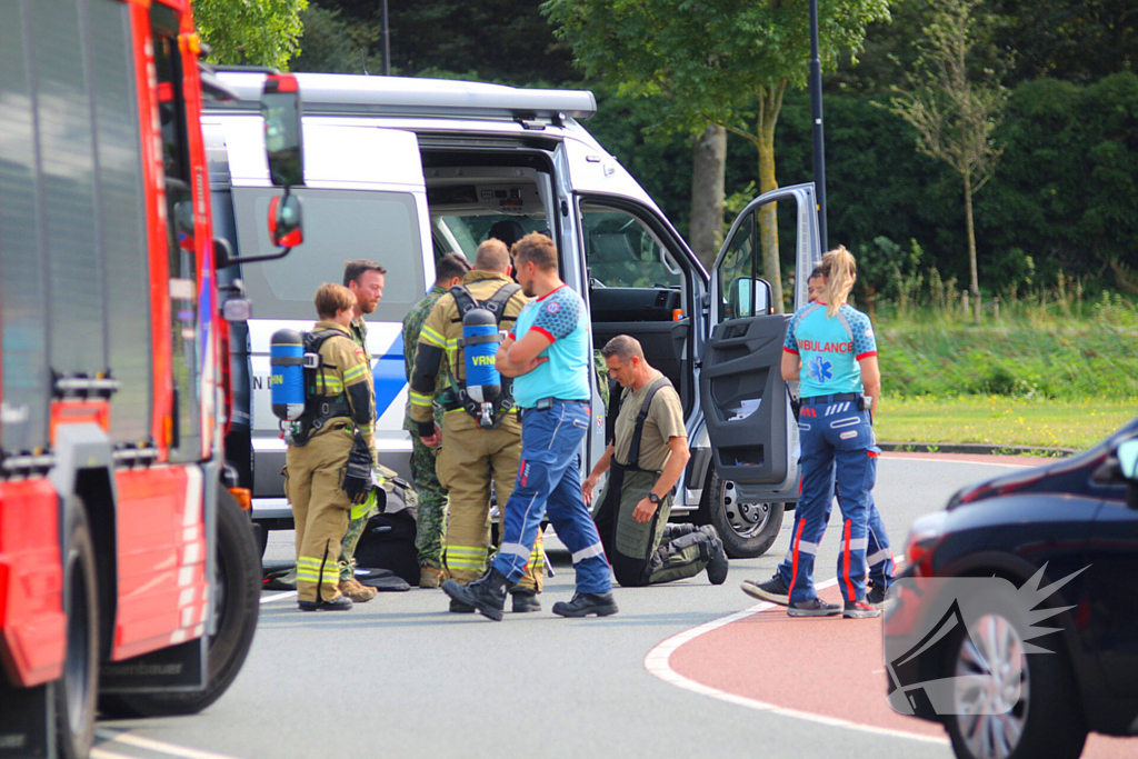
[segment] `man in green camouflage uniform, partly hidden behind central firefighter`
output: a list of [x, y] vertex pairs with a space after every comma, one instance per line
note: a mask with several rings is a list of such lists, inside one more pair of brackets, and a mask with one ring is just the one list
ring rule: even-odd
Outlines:
[[[407, 382], [414, 370], [415, 346], [422, 333], [423, 322], [435, 308], [446, 291], [462, 284], [462, 278], [470, 271], [470, 263], [460, 254], [448, 253], [435, 264], [435, 284], [422, 300], [412, 306], [403, 319], [403, 363]], [[442, 362], [440, 379], [435, 387], [435, 423], [443, 423], [443, 406], [438, 404], [438, 394], [451, 386], [447, 363]], [[415, 548], [419, 551], [419, 587], [438, 587], [445, 579], [443, 575], [443, 523], [446, 520], [446, 488], [438, 481], [435, 472], [435, 456], [438, 449], [423, 445], [417, 432], [419, 424], [411, 416], [411, 398], [404, 414], [403, 429], [411, 432], [413, 447], [411, 449], [411, 477], [415, 490], [421, 494], [419, 511], [415, 517]]]

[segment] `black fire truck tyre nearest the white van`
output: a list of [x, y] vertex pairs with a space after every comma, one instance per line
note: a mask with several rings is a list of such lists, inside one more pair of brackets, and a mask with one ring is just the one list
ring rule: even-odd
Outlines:
[[261, 558], [248, 517], [223, 487], [217, 488], [217, 551], [209, 592], [217, 620], [209, 638], [208, 680], [196, 693], [131, 693], [104, 696], [100, 707], [116, 717], [192, 715], [221, 698], [241, 670], [261, 611]]

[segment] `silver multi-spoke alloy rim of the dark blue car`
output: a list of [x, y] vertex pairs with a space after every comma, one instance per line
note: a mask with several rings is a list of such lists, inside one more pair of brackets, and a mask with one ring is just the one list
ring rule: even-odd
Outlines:
[[956, 655], [955, 713], [960, 737], [978, 759], [1004, 759], [1023, 736], [1029, 673], [1023, 640], [999, 614], [976, 620]]

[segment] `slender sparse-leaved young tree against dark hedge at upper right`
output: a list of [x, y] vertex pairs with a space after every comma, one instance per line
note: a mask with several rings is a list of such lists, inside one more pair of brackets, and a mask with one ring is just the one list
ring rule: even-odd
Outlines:
[[980, 43], [976, 8], [982, 0], [931, 0], [938, 11], [924, 27], [923, 55], [909, 89], [890, 100], [898, 116], [917, 131], [917, 150], [948, 164], [964, 184], [968, 277], [974, 319], [980, 321], [980, 279], [972, 196], [996, 173], [1003, 149], [992, 132], [1004, 118], [1007, 91], [991, 69], [975, 72]]

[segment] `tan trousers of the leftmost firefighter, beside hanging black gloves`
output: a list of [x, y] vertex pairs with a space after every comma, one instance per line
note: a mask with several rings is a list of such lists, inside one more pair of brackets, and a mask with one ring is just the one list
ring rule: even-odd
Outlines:
[[331, 601], [340, 594], [340, 542], [352, 502], [340, 487], [340, 470], [352, 451], [351, 429], [331, 429], [286, 454], [284, 494], [296, 522], [297, 601]]

